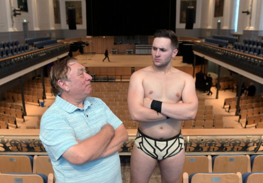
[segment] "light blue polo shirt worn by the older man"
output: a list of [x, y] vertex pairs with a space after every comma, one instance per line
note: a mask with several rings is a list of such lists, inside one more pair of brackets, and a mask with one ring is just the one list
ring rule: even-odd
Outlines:
[[122, 124], [101, 99], [87, 97], [83, 104], [81, 109], [57, 96], [41, 118], [39, 138], [50, 156], [56, 183], [122, 183], [118, 152], [82, 165], [73, 165], [62, 156], [78, 144], [76, 138], [83, 141], [106, 123], [114, 129]]

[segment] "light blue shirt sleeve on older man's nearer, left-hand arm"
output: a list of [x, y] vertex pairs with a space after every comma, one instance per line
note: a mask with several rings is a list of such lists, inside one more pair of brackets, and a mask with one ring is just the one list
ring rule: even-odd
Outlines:
[[78, 144], [74, 130], [66, 119], [56, 115], [43, 115], [39, 138], [46, 151], [56, 160], [70, 147]]

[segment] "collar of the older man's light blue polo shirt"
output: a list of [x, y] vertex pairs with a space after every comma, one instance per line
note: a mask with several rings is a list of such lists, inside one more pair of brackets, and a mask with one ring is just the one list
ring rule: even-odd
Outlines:
[[[79, 109], [77, 106], [69, 103], [65, 99], [61, 98], [59, 95], [56, 96], [55, 101], [56, 104], [67, 113], [72, 113], [75, 110]], [[91, 104], [92, 102], [89, 100], [89, 97], [87, 97], [83, 102], [84, 109], [87, 109]]]

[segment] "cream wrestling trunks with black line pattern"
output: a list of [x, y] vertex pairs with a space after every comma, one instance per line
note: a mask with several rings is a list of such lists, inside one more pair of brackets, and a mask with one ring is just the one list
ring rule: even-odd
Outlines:
[[134, 143], [139, 150], [158, 160], [174, 156], [184, 149], [181, 131], [178, 135], [168, 139], [154, 139], [143, 134], [138, 128]]

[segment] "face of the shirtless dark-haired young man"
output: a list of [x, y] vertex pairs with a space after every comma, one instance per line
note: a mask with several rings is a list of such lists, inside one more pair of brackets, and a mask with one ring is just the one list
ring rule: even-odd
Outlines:
[[153, 64], [157, 67], [164, 67], [176, 56], [178, 50], [173, 49], [171, 40], [166, 37], [156, 37], [152, 46]]

